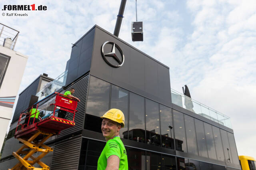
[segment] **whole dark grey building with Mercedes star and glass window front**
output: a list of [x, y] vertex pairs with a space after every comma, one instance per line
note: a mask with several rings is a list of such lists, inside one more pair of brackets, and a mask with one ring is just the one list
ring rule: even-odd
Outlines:
[[[114, 46], [107, 41], [115, 43], [116, 59], [106, 56]], [[97, 169], [106, 143], [100, 116], [112, 108], [125, 115], [120, 137], [130, 170], [241, 169], [233, 130], [173, 104], [169, 67], [149, 55], [94, 26], [73, 45], [67, 67], [65, 88], [76, 89], [81, 101], [76, 125], [47, 141], [54, 152], [43, 161], [52, 170]], [[10, 151], [18, 142], [8, 140], [2, 169], [16, 161]]]

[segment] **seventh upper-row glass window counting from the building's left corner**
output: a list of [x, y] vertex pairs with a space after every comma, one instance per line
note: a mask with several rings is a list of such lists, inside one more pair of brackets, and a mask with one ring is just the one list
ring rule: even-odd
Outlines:
[[197, 142], [196, 142], [196, 130], [194, 118], [188, 115], [184, 115], [185, 126], [186, 126], [186, 135], [188, 143], [188, 153], [198, 155]]

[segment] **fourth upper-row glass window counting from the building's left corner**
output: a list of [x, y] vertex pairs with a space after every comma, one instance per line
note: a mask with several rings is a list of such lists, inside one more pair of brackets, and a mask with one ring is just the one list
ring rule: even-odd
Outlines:
[[160, 119], [158, 103], [146, 99], [146, 142], [160, 146]]

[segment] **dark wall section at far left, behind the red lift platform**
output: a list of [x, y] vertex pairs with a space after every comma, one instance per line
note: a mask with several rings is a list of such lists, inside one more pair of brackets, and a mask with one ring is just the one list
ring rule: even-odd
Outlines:
[[20, 113], [28, 108], [30, 97], [32, 95], [36, 95], [39, 82], [40, 76], [33, 83], [31, 83], [22, 93], [20, 93], [16, 109], [12, 118], [12, 123], [18, 121]]

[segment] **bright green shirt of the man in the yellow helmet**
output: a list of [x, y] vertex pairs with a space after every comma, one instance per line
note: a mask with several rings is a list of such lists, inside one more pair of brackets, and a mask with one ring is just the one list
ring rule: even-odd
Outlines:
[[119, 170], [128, 170], [127, 153], [119, 136], [108, 140], [98, 159], [98, 170], [105, 170], [108, 157], [116, 155], [120, 159]]

